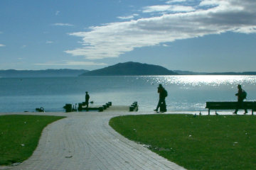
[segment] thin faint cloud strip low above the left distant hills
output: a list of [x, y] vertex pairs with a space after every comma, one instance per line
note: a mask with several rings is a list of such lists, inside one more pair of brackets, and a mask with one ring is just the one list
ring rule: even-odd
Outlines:
[[64, 63], [56, 63], [56, 62], [50, 62], [50, 63], [36, 63], [35, 65], [47, 65], [47, 66], [102, 66], [102, 65], [107, 65], [105, 63], [96, 63], [96, 62], [64, 62]]

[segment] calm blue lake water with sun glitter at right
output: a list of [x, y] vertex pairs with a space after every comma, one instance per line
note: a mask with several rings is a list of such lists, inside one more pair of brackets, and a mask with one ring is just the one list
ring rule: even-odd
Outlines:
[[81, 103], [89, 91], [94, 105], [139, 103], [139, 111], [153, 111], [158, 84], [169, 93], [168, 111], [206, 111], [206, 101], [236, 101], [237, 84], [256, 101], [256, 76], [146, 76], [1, 78], [0, 112], [63, 111], [65, 103]]

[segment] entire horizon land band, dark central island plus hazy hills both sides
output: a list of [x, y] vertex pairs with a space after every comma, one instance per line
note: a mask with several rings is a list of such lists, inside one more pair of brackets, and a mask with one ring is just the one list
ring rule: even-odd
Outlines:
[[256, 75], [256, 72], [191, 72], [169, 70], [154, 64], [124, 62], [102, 69], [0, 70], [0, 77], [78, 77], [78, 76], [148, 76], [148, 75]]

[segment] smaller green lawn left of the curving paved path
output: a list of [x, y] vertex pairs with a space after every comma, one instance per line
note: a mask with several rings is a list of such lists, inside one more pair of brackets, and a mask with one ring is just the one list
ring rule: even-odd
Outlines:
[[0, 165], [23, 162], [33, 154], [43, 128], [65, 117], [44, 115], [0, 116]]

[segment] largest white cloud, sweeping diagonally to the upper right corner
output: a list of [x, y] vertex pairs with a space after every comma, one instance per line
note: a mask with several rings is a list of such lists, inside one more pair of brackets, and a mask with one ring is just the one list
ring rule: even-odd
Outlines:
[[[108, 23], [91, 27], [90, 31], [70, 33], [82, 38], [83, 47], [66, 50], [74, 56], [84, 56], [90, 60], [119, 57], [134, 48], [159, 45], [186, 38], [219, 34], [255, 33], [256, 1], [229, 0], [216, 1], [217, 6], [204, 8], [207, 1], [197, 10], [186, 13], [164, 14], [158, 17], [141, 18], [137, 21]], [[159, 6], [159, 11], [169, 6]], [[156, 9], [156, 8], [155, 8]]]

